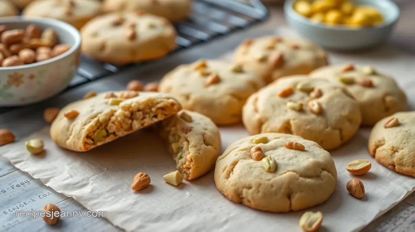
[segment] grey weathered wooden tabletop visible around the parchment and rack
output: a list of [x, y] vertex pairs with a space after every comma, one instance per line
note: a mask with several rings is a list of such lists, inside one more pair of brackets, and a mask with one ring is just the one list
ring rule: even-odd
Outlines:
[[[415, 0], [396, 0], [401, 9], [401, 18], [389, 44], [415, 56]], [[189, 63], [198, 58], [215, 58], [224, 51], [235, 48], [244, 38], [273, 33], [277, 27], [286, 25], [281, 7], [271, 7], [270, 19], [260, 26], [217, 39], [183, 51], [170, 58], [159, 60], [142, 68], [132, 68], [114, 74], [97, 82], [83, 85], [48, 101], [0, 114], [0, 128], [15, 133], [17, 139], [38, 131], [46, 126], [42, 119], [43, 109], [48, 106], [62, 107], [74, 99], [80, 99], [90, 90], [97, 92], [124, 89], [129, 80], [138, 78], [150, 82], [162, 77], [166, 72], [181, 63]], [[414, 64], [415, 65], [415, 64]], [[73, 198], [68, 198], [44, 186], [39, 179], [13, 167], [0, 155], [0, 231], [121, 231], [105, 218], [65, 218], [56, 226], [47, 226], [40, 218], [16, 218], [16, 210], [39, 210], [45, 203], [54, 203], [61, 210], [87, 211]], [[297, 231], [294, 228], [293, 231]], [[415, 231], [415, 193], [398, 203], [362, 231], [409, 232]]]

